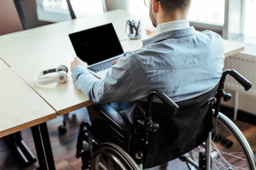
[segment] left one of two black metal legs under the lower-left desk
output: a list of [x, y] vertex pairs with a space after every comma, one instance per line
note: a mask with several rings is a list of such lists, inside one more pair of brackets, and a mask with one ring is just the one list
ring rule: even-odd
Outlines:
[[40, 169], [47, 170], [47, 164], [44, 156], [44, 148], [41, 141], [39, 126], [35, 125], [31, 127], [31, 131], [32, 131], [32, 135], [35, 143], [35, 150], [38, 156], [38, 163], [39, 163]]

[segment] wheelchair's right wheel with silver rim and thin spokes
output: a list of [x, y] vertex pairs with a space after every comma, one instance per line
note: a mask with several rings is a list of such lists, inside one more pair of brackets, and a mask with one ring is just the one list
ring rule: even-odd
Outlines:
[[[213, 124], [212, 170], [256, 170], [253, 152], [239, 128], [222, 113], [213, 119]], [[198, 146], [189, 153], [190, 157], [200, 164], [200, 152], [206, 147]]]

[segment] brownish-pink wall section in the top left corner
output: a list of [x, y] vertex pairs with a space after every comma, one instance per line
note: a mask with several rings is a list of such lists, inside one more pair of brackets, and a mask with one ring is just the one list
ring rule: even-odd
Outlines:
[[0, 0], [0, 35], [23, 30], [13, 0]]

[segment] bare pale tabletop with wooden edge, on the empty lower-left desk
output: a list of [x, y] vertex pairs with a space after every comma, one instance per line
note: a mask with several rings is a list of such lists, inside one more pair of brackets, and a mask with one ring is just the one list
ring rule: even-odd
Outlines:
[[0, 137], [57, 117], [55, 111], [1, 59], [0, 68]]

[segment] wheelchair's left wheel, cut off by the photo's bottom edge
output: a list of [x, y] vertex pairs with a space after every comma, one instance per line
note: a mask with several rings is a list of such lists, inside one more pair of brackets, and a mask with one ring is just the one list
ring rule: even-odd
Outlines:
[[140, 168], [121, 147], [113, 143], [102, 143], [93, 154], [90, 170], [140, 170]]

